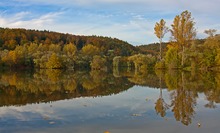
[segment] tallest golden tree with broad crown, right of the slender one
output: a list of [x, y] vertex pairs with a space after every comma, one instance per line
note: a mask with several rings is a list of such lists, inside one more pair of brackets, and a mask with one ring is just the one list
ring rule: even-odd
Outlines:
[[191, 13], [188, 11], [184, 11], [181, 15], [177, 15], [171, 25], [172, 29], [170, 31], [172, 34], [172, 41], [174, 41], [182, 51], [182, 66], [184, 66], [185, 48], [189, 47], [192, 40], [196, 37], [194, 25], [195, 22], [191, 17]]

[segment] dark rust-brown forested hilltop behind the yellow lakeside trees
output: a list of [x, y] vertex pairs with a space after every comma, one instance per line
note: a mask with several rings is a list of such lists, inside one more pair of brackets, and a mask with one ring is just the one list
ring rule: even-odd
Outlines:
[[72, 34], [64, 34], [53, 31], [39, 31], [27, 29], [10, 29], [0, 28], [0, 48], [13, 50], [17, 45], [30, 43], [37, 44], [59, 44], [65, 45], [73, 43], [81, 50], [86, 44], [92, 44], [101, 49], [101, 52], [106, 55], [109, 50], [114, 51], [115, 55], [129, 56], [138, 53], [138, 48], [131, 44], [110, 37], [102, 36], [79, 36]]

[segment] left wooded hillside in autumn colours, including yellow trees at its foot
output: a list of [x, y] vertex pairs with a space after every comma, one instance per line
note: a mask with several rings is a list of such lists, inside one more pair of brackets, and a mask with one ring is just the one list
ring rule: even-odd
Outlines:
[[35, 68], [88, 67], [100, 58], [111, 64], [114, 56], [138, 53], [116, 38], [9, 28], [0, 28], [0, 50], [2, 66]]

